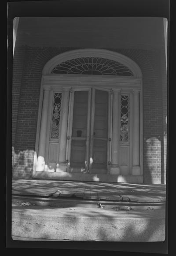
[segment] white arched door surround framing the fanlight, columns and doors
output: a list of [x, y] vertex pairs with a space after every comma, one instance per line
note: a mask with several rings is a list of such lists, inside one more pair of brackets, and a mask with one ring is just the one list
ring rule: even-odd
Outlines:
[[[64, 61], [79, 58], [79, 57], [100, 57], [100, 58], [106, 58], [111, 59], [114, 61], [117, 61], [119, 63], [124, 64], [126, 67], [128, 67], [132, 73], [133, 76], [111, 76], [111, 75], [86, 75], [86, 74], [51, 74], [51, 70], [58, 65], [59, 63], [62, 63]], [[139, 175], [136, 173], [136, 175], [128, 175], [128, 177], [125, 178], [125, 182], [143, 182], [143, 86], [142, 86], [142, 72], [139, 68], [139, 66], [130, 58], [109, 50], [104, 49], [78, 49], [73, 51], [67, 51], [64, 53], [59, 54], [58, 56], [55, 56], [54, 58], [50, 59], [44, 66], [44, 69], [42, 71], [42, 79], [41, 79], [41, 87], [40, 87], [40, 99], [39, 99], [39, 109], [38, 109], [38, 119], [37, 119], [37, 133], [36, 133], [36, 144], [35, 144], [35, 152], [34, 152], [34, 163], [33, 163], [33, 177], [39, 177], [39, 173], [41, 175], [45, 175], [46, 171], [37, 171], [37, 159], [38, 159], [38, 149], [39, 149], [39, 139], [40, 139], [40, 123], [41, 123], [41, 113], [43, 108], [43, 97], [45, 95], [46, 91], [50, 91], [51, 93], [54, 93], [55, 91], [63, 92], [65, 90], [69, 90], [71, 88], [90, 88], [92, 86], [92, 81], [94, 86], [100, 87], [101, 89], [113, 89], [113, 91], [118, 90], [123, 93], [128, 93], [131, 97], [130, 99], [130, 116], [132, 117], [133, 112], [133, 105], [134, 105], [134, 91], [139, 91], [139, 125], [140, 125], [140, 134], [139, 134], [139, 147], [140, 147], [140, 167], [141, 170], [139, 172]], [[114, 98], [114, 93], [111, 95], [111, 97]], [[119, 101], [120, 101], [120, 94], [119, 94]], [[114, 107], [114, 106], [113, 106]], [[62, 107], [61, 107], [62, 108]], [[111, 106], [112, 108], [112, 106]], [[111, 111], [112, 112], [112, 111]], [[112, 117], [111, 117], [112, 118]], [[48, 114], [47, 121], [51, 119], [51, 114]], [[69, 121], [69, 120], [68, 120]], [[132, 120], [131, 120], [132, 121]], [[131, 122], [132, 124], [132, 122]], [[62, 125], [62, 124], [61, 124]], [[133, 126], [130, 127], [130, 136], [132, 135], [132, 129]], [[131, 136], [132, 137], [132, 136]], [[131, 146], [130, 146], [131, 147]], [[46, 154], [46, 152], [45, 152]], [[110, 152], [111, 154], [111, 152]], [[137, 169], [136, 169], [137, 171]], [[42, 174], [43, 173], [43, 174]], [[45, 174], [44, 174], [45, 173]], [[52, 176], [54, 175], [54, 176]], [[57, 173], [52, 173], [52, 177], [59, 178]], [[118, 176], [118, 178], [115, 178], [115, 181], [117, 182], [123, 182], [123, 177], [121, 179], [121, 175], [114, 175]], [[138, 176], [140, 176], [138, 178]], [[44, 177], [44, 176], [42, 176]], [[48, 174], [46, 174], [46, 177], [48, 177]], [[61, 179], [63, 177], [62, 176]], [[112, 175], [110, 175], [111, 180]], [[64, 178], [64, 179], [65, 179]], [[68, 178], [68, 177], [67, 177]], [[67, 179], [66, 178], [66, 179]], [[73, 177], [73, 180], [77, 179], [77, 177]], [[102, 178], [102, 180], [106, 181], [106, 178]], [[112, 181], [114, 181], [114, 178], [112, 178]]]

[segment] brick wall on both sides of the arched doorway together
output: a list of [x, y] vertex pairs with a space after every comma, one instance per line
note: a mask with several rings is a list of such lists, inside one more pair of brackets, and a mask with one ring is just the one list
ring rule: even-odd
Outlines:
[[[73, 48], [15, 49], [13, 69], [12, 153], [14, 177], [30, 178], [37, 129], [41, 73], [45, 63]], [[75, 49], [75, 48], [74, 48]], [[166, 79], [162, 52], [137, 49], [109, 49], [134, 60], [143, 73], [143, 171], [145, 183], [165, 179]], [[166, 135], [165, 135], [166, 136]]]

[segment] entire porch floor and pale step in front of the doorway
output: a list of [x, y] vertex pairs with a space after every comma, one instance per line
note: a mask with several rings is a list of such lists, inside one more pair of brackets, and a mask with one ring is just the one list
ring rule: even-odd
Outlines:
[[164, 241], [165, 185], [13, 180], [12, 239]]

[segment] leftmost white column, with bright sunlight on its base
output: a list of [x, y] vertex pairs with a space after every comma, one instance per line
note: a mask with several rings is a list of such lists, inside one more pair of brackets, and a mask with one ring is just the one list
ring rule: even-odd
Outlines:
[[40, 124], [39, 149], [36, 171], [44, 171], [50, 89], [44, 89], [44, 100]]

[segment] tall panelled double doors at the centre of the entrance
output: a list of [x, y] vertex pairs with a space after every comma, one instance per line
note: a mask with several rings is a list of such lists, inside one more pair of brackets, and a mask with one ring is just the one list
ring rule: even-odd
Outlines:
[[110, 164], [110, 90], [73, 89], [67, 131], [67, 171], [106, 174]]

